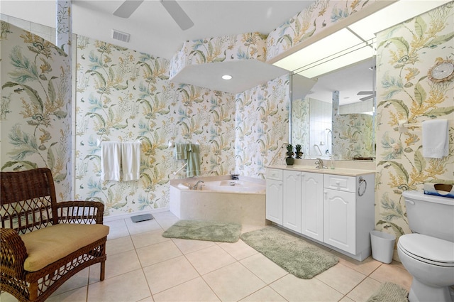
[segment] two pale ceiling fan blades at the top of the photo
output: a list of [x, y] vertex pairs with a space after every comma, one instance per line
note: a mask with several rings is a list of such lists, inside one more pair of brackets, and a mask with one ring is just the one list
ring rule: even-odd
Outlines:
[[[126, 0], [114, 11], [114, 16], [129, 18], [142, 2], [143, 0]], [[194, 26], [194, 22], [187, 16], [176, 0], [160, 0], [160, 2], [183, 31]]]

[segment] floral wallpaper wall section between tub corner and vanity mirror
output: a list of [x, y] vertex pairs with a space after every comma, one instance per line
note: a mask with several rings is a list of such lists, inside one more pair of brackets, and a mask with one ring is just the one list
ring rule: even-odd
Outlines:
[[283, 75], [236, 96], [236, 173], [264, 178], [276, 153], [284, 161], [279, 147], [289, 137], [289, 94], [289, 75]]

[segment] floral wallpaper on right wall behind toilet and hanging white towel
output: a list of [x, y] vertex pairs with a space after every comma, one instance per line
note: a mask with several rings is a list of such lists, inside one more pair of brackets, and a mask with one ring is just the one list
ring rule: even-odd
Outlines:
[[[376, 224], [399, 237], [410, 232], [404, 190], [453, 183], [454, 81], [431, 82], [438, 60], [454, 59], [454, 2], [377, 35]], [[421, 128], [399, 131], [399, 121], [450, 120], [449, 155], [422, 156]]]

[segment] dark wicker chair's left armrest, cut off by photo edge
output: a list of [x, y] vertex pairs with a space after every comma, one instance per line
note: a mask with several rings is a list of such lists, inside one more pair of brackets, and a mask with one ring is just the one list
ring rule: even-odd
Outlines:
[[0, 229], [0, 271], [1, 274], [21, 278], [25, 271], [23, 262], [28, 257], [26, 245], [16, 230]]

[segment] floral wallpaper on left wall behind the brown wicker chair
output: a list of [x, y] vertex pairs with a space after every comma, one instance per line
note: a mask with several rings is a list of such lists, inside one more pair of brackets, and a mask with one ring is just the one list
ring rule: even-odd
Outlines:
[[57, 199], [71, 193], [71, 71], [66, 53], [1, 24], [1, 171], [47, 167]]

